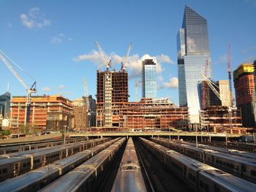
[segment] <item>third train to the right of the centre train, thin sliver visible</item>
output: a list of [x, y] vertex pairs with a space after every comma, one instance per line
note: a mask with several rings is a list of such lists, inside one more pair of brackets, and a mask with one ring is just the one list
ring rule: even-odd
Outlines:
[[[180, 141], [180, 140], [174, 140], [174, 142], [179, 142], [179, 143], [185, 144], [185, 145], [196, 146], [196, 144], [194, 142], [184, 142], [184, 141]], [[249, 153], [249, 152], [241, 151], [241, 150], [230, 150], [230, 149], [226, 149], [226, 148], [223, 148], [223, 147], [215, 147], [215, 146], [203, 145], [203, 144], [198, 144], [197, 147], [200, 147], [200, 148], [203, 148], [203, 149], [208, 149], [208, 150], [217, 150], [217, 151], [222, 152], [222, 153], [237, 155], [237, 156], [241, 156], [241, 157], [244, 157], [244, 158], [256, 159], [256, 153]]]

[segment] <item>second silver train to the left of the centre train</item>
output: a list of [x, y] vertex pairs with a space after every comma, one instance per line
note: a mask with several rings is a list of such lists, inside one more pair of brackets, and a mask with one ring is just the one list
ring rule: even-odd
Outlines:
[[112, 139], [101, 145], [91, 147], [90, 149], [83, 150], [80, 153], [56, 161], [53, 164], [48, 164], [47, 166], [34, 169], [18, 177], [5, 180], [0, 183], [0, 191], [39, 191], [41, 188], [53, 182], [53, 180], [75, 169], [75, 167], [104, 150], [106, 147], [109, 147], [119, 139], [121, 138]]

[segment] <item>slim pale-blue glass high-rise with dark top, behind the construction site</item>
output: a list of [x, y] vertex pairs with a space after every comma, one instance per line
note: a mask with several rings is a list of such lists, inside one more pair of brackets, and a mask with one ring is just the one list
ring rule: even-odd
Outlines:
[[142, 97], [157, 97], [157, 65], [153, 59], [145, 59], [142, 62]]

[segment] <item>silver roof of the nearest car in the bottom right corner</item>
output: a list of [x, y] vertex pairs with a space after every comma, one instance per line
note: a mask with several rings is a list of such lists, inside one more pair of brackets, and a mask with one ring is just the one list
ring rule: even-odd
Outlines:
[[243, 180], [219, 169], [207, 169], [200, 172], [203, 176], [214, 180], [215, 183], [225, 186], [230, 191], [255, 191], [256, 185], [249, 181]]

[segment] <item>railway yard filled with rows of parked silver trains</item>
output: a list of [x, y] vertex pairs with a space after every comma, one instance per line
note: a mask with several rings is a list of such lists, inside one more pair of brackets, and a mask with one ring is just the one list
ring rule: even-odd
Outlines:
[[166, 137], [1, 145], [0, 191], [255, 191], [255, 145], [236, 146]]

